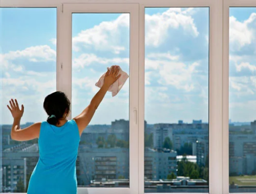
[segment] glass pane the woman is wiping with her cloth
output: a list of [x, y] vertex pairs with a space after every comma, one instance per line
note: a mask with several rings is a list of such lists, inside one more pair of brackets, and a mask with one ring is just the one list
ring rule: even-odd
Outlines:
[[[90, 104], [107, 67], [119, 65], [129, 74], [130, 14], [72, 17], [74, 117]], [[116, 96], [106, 93], [81, 135], [77, 163], [79, 187], [129, 187], [129, 80]]]

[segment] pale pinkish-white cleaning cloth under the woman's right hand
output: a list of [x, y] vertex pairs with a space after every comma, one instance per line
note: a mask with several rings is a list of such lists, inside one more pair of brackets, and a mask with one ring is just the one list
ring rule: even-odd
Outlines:
[[[108, 67], [108, 70], [110, 70], [112, 67]], [[112, 92], [112, 96], [114, 97], [123, 87], [126, 80], [129, 78], [129, 76], [126, 74], [126, 72], [122, 71], [122, 69], [119, 67], [118, 76], [121, 74], [120, 78], [118, 78], [117, 81], [115, 81], [109, 88], [108, 91]], [[97, 87], [101, 88], [104, 83], [105, 74], [103, 74], [99, 81], [95, 84]]]

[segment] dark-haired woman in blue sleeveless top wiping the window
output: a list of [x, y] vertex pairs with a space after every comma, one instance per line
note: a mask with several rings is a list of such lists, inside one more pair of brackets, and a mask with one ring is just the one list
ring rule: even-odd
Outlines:
[[90, 105], [72, 120], [70, 101], [63, 92], [54, 92], [45, 98], [44, 109], [49, 115], [47, 122], [35, 123], [20, 130], [24, 106], [19, 109], [17, 100], [7, 105], [14, 118], [11, 138], [27, 141], [38, 138], [39, 160], [31, 175], [28, 194], [75, 194], [77, 193], [76, 158], [80, 136], [90, 123], [106, 91], [120, 77], [118, 66], [106, 72], [104, 84]]

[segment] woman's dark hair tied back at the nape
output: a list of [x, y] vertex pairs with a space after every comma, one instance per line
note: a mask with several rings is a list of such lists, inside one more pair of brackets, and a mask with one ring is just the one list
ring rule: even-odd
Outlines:
[[59, 123], [59, 119], [63, 117], [65, 112], [69, 113], [70, 101], [65, 93], [56, 91], [46, 96], [44, 109], [49, 115], [47, 122], [56, 126]]

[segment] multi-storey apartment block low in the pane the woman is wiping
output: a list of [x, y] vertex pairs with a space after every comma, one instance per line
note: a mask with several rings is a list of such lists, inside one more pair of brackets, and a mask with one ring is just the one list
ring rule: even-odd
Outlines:
[[80, 145], [78, 185], [90, 185], [92, 180], [129, 179], [129, 149], [88, 148]]

